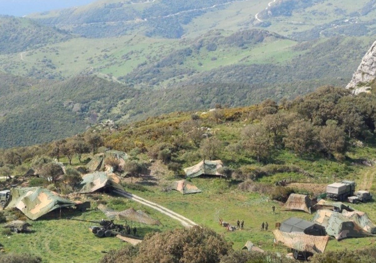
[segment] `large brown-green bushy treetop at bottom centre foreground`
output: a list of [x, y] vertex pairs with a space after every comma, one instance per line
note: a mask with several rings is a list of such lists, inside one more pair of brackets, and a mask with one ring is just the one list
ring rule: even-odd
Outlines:
[[125, 246], [108, 253], [102, 263], [219, 263], [232, 251], [223, 236], [206, 227], [193, 226], [147, 236], [134, 249]]

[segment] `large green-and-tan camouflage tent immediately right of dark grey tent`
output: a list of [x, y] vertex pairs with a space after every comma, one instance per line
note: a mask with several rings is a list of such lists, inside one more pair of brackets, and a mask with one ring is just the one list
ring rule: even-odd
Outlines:
[[318, 210], [313, 222], [325, 227], [326, 233], [337, 240], [346, 237], [365, 237], [372, 234], [363, 230], [356, 222], [352, 221], [341, 213], [331, 210]]

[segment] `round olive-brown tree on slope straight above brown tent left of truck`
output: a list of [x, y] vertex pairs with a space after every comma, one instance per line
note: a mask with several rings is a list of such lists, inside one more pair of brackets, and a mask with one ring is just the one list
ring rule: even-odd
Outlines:
[[288, 126], [283, 141], [285, 147], [302, 156], [317, 149], [317, 130], [309, 121], [296, 120]]

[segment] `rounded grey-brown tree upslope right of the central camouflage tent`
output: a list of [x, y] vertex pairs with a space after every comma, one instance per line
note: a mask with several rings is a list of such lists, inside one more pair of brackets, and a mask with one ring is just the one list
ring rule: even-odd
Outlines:
[[253, 124], [244, 128], [242, 132], [243, 148], [251, 156], [255, 156], [257, 162], [270, 155], [270, 142], [267, 130], [262, 124]]

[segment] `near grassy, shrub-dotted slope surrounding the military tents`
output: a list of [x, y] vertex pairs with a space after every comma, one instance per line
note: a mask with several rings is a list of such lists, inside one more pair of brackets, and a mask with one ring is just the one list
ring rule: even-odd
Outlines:
[[[148, 172], [145, 174], [119, 177], [127, 191], [161, 204], [197, 224], [223, 234], [226, 240], [233, 243], [232, 248], [235, 250], [240, 250], [250, 240], [264, 250], [286, 253], [287, 248], [283, 245], [273, 245], [274, 237], [271, 231], [259, 230], [261, 222], [268, 222], [269, 229], [273, 230], [274, 223], [277, 221], [283, 221], [291, 216], [311, 220], [313, 215], [299, 211], [282, 211], [283, 203], [276, 199], [276, 196], [280, 197], [289, 191], [294, 191], [314, 197], [322, 193], [327, 184], [343, 179], [355, 180], [357, 189], [368, 189], [371, 192], [376, 190], [372, 167], [376, 160], [374, 126], [372, 126], [376, 115], [372, 107], [369, 107], [374, 104], [374, 100], [372, 94], [349, 97], [344, 95], [340, 88], [323, 87], [314, 93], [294, 101], [287, 101], [279, 106], [269, 100], [257, 106], [236, 109], [217, 108], [217, 115], [215, 112], [199, 111], [197, 115], [192, 115], [191, 112], [175, 112], [133, 122], [119, 127], [118, 130], [103, 130], [99, 132], [99, 135], [103, 136], [104, 148], [126, 151], [133, 161], [147, 165]], [[359, 123], [362, 130], [352, 133], [350, 137], [347, 132], [345, 133], [346, 125], [344, 116], [341, 115], [341, 112], [347, 112], [347, 110], [354, 110], [364, 121]], [[291, 146], [288, 146], [286, 139], [290, 128], [293, 127], [293, 122], [288, 122], [287, 126], [283, 126], [284, 128], [278, 133], [275, 146], [271, 130], [259, 135], [259, 137], [269, 138], [265, 142], [270, 147], [270, 153], [264, 156], [261, 162], [257, 161], [255, 153], [243, 147], [251, 138], [244, 138], [244, 131], [247, 127], [259, 125], [267, 127], [268, 118], [287, 117], [288, 113], [294, 112], [299, 113], [299, 118], [302, 118], [299, 126], [303, 126], [309, 118], [314, 120], [313, 126], [318, 130], [323, 130], [335, 123], [342, 131], [341, 136], [346, 138], [346, 148], [338, 148], [330, 155], [328, 151], [331, 150], [324, 148], [320, 137], [315, 142], [317, 145], [314, 150], [307, 149], [305, 153], [296, 153]], [[323, 118], [321, 122], [319, 118]], [[331, 118], [331, 121], [326, 121], [327, 118]], [[180, 168], [189, 167], [205, 158], [202, 151], [205, 139], [201, 137], [197, 139], [198, 145], [193, 141], [192, 131], [196, 127], [191, 122], [193, 120], [198, 122], [197, 127], [205, 127], [202, 132], [205, 132], [206, 136], [218, 140], [221, 150], [216, 152], [215, 159], [223, 160], [224, 165], [232, 169], [232, 177], [227, 180], [211, 177], [192, 178], [190, 181], [202, 190], [202, 193], [194, 195], [181, 195], [179, 192], [166, 191], [173, 181], [183, 178], [184, 173]], [[334, 120], [337, 122], [333, 122]], [[355, 125], [352, 127], [357, 130]], [[320, 134], [323, 136], [323, 133]], [[67, 138], [67, 141], [70, 139]], [[1, 171], [9, 167], [6, 163], [9, 160], [5, 157], [11, 152], [20, 155], [21, 164], [13, 166], [11, 170], [11, 174], [17, 178], [21, 171], [27, 171], [32, 166], [32, 159], [35, 156], [31, 156], [31, 153], [44, 156], [53, 147], [55, 144], [44, 144], [39, 147], [35, 145], [2, 151], [1, 161], [5, 165]], [[82, 159], [87, 162], [88, 158], [92, 158], [92, 154], [85, 154]], [[154, 162], [150, 163], [150, 158], [155, 158]], [[72, 165], [69, 165], [67, 157], [61, 156], [61, 162], [69, 168], [85, 164], [85, 162], [79, 162], [76, 157], [73, 158]], [[173, 169], [176, 164], [180, 165], [177, 170]], [[23, 186], [27, 186], [32, 181], [29, 181], [30, 178], [24, 178], [24, 180], [18, 178], [20, 181], [14, 179], [13, 182], [22, 183]], [[274, 186], [275, 181], [284, 178], [288, 178], [287, 187]], [[55, 185], [50, 185], [49, 188], [57, 191], [67, 190], [65, 183], [59, 181]], [[62, 260], [94, 262], [102, 258], [104, 252], [127, 246], [116, 238], [98, 239], [93, 236], [87, 231], [91, 223], [65, 220], [71, 216], [89, 220], [102, 219], [103, 213], [95, 210], [100, 203], [116, 211], [129, 207], [135, 210], [141, 209], [161, 222], [161, 225], [154, 227], [128, 221], [136, 225], [141, 236], [182, 227], [177, 221], [167, 218], [156, 210], [119, 196], [100, 192], [80, 196], [70, 195], [70, 198], [89, 200], [92, 209], [85, 213], [63, 210], [61, 215], [52, 213], [38, 219], [32, 222], [32, 233], [13, 234], [9, 238], [2, 239], [1, 243], [5, 252], [17, 252], [22, 249], [42, 257], [45, 262]], [[275, 213], [271, 210], [272, 205], [276, 206]], [[366, 212], [371, 221], [376, 221], [374, 202], [351, 204], [351, 206]], [[16, 215], [23, 218], [19, 213]], [[218, 225], [219, 218], [233, 225], [237, 219], [244, 219], [244, 230], [228, 232], [226, 228]], [[117, 222], [125, 223], [125, 221]], [[33, 242], [29, 242], [30, 237], [33, 237]], [[341, 242], [331, 239], [327, 251], [374, 246], [374, 242], [376, 242], [375, 237], [349, 238]]]

